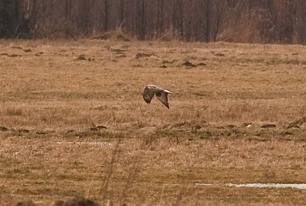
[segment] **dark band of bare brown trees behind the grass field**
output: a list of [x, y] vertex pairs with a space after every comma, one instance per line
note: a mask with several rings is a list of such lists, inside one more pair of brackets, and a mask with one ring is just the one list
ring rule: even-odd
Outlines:
[[304, 0], [0, 0], [1, 38], [305, 43]]

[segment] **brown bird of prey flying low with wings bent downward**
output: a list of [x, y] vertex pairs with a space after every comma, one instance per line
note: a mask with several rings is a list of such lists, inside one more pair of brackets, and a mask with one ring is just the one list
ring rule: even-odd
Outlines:
[[149, 84], [146, 87], [144, 87], [142, 97], [144, 101], [147, 104], [149, 104], [151, 103], [151, 100], [154, 97], [154, 95], [156, 95], [157, 99], [161, 101], [169, 109], [168, 94], [173, 94], [173, 93], [171, 93], [171, 91], [167, 89], [163, 89], [160, 86]]

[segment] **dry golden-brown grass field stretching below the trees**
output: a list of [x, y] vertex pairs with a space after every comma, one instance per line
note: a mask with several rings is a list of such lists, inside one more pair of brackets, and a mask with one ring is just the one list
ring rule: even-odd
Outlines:
[[[306, 190], [224, 184], [306, 182], [306, 127], [288, 128], [306, 116], [306, 47], [0, 45], [0, 205], [305, 203]], [[143, 101], [148, 83], [175, 93], [170, 109]]]

